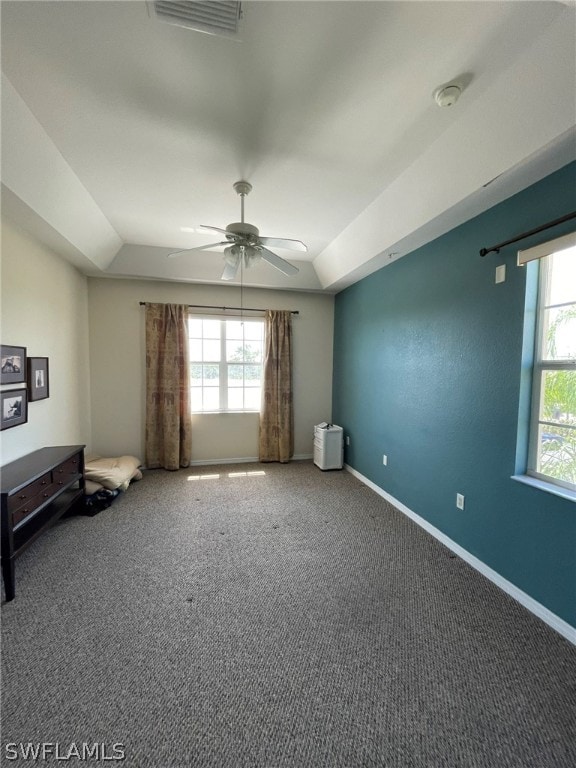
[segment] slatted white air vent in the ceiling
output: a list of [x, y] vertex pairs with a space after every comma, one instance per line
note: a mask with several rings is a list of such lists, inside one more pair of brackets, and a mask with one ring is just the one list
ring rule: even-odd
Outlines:
[[195, 29], [209, 35], [235, 35], [241, 16], [241, 3], [231, 0], [174, 2], [154, 0], [148, 3], [160, 21], [179, 27]]

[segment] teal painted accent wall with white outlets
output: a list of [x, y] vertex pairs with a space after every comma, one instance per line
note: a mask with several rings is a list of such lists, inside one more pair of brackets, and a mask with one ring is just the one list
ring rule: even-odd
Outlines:
[[529, 354], [516, 252], [575, 221], [479, 251], [574, 210], [571, 163], [339, 293], [332, 414], [351, 467], [572, 626], [576, 504], [511, 476]]

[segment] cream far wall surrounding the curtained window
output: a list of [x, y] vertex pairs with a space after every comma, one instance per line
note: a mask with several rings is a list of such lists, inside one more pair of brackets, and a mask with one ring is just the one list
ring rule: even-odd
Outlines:
[[[88, 278], [92, 447], [144, 460], [144, 307], [139, 302], [240, 306], [240, 289], [165, 281]], [[331, 420], [333, 296], [245, 288], [243, 306], [293, 309], [295, 457], [312, 455], [312, 429]], [[192, 461], [254, 459], [258, 414], [193, 418]]]

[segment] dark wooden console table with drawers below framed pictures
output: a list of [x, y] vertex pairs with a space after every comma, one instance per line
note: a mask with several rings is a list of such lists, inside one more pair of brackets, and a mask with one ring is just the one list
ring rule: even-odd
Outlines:
[[84, 446], [40, 448], [6, 464], [2, 473], [2, 577], [14, 599], [14, 561], [72, 509], [84, 508]]

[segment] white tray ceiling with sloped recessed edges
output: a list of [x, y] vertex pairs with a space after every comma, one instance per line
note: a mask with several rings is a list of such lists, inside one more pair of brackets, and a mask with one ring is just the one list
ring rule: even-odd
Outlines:
[[238, 221], [247, 179], [247, 220], [308, 253], [245, 283], [334, 292], [576, 157], [573, 2], [242, 7], [231, 40], [2, 0], [4, 211], [87, 274], [214, 282], [218, 252], [165, 256]]

